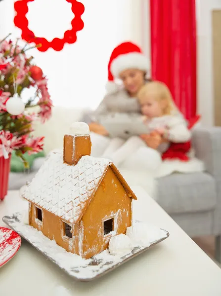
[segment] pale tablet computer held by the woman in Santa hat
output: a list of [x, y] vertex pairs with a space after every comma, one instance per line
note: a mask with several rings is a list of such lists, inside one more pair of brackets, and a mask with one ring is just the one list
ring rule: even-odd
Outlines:
[[128, 116], [122, 113], [107, 116], [100, 124], [108, 131], [111, 138], [129, 139], [132, 136], [149, 134], [150, 130], [143, 123], [142, 116]]

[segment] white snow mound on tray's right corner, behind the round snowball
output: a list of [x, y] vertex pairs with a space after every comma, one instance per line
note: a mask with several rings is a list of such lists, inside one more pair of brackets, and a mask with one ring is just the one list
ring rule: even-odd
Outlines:
[[133, 226], [127, 228], [126, 235], [130, 237], [133, 247], [148, 247], [159, 239], [162, 230], [154, 225], [148, 225], [143, 222], [136, 222]]

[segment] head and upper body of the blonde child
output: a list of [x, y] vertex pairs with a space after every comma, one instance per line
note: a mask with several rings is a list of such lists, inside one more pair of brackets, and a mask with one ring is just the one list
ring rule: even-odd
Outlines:
[[191, 133], [178, 112], [169, 88], [160, 81], [145, 84], [137, 95], [144, 122], [152, 131], [173, 143], [185, 143]]

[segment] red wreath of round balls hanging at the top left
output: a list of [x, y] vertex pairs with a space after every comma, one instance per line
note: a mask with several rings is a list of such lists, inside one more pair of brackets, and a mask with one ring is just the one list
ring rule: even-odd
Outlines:
[[18, 0], [14, 3], [14, 9], [17, 12], [14, 17], [14, 24], [22, 30], [22, 39], [28, 42], [34, 42], [36, 45], [41, 44], [41, 46], [38, 47], [38, 50], [40, 51], [46, 51], [49, 47], [60, 51], [65, 43], [71, 44], [76, 42], [77, 32], [84, 28], [84, 22], [81, 19], [81, 15], [85, 11], [85, 6], [81, 2], [78, 2], [77, 0], [66, 0], [72, 4], [71, 10], [75, 15], [74, 19], [71, 21], [72, 29], [64, 33], [63, 39], [54, 38], [49, 42], [44, 37], [36, 37], [28, 28], [28, 19], [26, 18], [26, 13], [28, 12], [27, 3], [32, 1], [34, 0]]

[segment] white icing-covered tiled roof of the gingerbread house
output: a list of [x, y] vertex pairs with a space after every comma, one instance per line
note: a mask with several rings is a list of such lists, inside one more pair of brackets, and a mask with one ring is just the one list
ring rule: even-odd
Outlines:
[[[110, 165], [110, 160], [92, 156], [83, 156], [75, 166], [67, 165], [61, 152], [51, 152], [23, 197], [67, 222], [77, 223]], [[136, 199], [115, 166], [113, 169], [129, 196]]]

